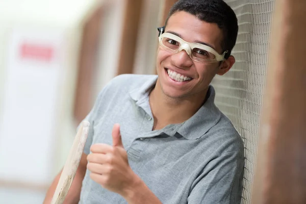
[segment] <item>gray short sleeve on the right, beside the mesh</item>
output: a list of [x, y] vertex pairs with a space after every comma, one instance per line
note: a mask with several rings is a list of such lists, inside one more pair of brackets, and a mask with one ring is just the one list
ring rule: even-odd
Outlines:
[[194, 181], [188, 204], [240, 204], [244, 153], [224, 152], [213, 159]]

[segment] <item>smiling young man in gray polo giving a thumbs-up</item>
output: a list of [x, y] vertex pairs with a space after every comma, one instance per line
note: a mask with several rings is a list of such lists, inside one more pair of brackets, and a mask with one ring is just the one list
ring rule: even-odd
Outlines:
[[66, 203], [240, 203], [243, 142], [210, 86], [235, 63], [235, 13], [222, 0], [183, 0], [159, 30], [158, 76], [114, 78], [87, 116]]

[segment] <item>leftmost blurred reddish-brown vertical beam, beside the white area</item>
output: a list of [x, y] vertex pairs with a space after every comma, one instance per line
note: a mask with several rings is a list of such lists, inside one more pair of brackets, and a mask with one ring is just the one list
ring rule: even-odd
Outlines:
[[77, 88], [74, 99], [74, 118], [78, 124], [91, 109], [92, 81], [94, 80], [102, 12], [103, 7], [101, 5], [84, 25]]

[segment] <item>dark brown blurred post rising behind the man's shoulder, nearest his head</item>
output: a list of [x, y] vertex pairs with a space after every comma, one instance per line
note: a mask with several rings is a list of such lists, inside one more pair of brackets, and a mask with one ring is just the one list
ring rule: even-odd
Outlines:
[[143, 0], [126, 0], [117, 74], [133, 73]]

